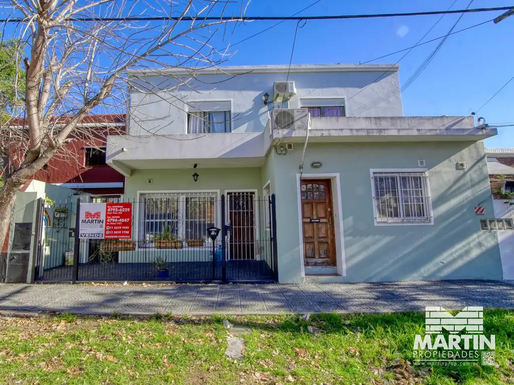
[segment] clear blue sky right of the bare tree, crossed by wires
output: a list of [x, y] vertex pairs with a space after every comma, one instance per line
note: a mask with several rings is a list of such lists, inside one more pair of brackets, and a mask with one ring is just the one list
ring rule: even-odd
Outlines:
[[[316, 0], [259, 0], [250, 3], [247, 15], [292, 15]], [[453, 0], [321, 0], [300, 15], [392, 13], [446, 10]], [[452, 9], [465, 9], [469, 0], [457, 0]], [[503, 7], [513, 0], [474, 0], [472, 8]], [[465, 14], [455, 27], [463, 29], [498, 16], [498, 12]], [[416, 44], [440, 16], [375, 18], [370, 20], [308, 21], [298, 30], [293, 64], [359, 63]], [[446, 15], [425, 40], [443, 36], [458, 15]], [[243, 40], [273, 22], [238, 26], [226, 38]], [[288, 64], [296, 22], [286, 21], [233, 47], [230, 65]], [[230, 31], [231, 32], [231, 31]], [[405, 115], [468, 115], [482, 106], [514, 76], [514, 15], [499, 24], [488, 23], [448, 38], [429, 66], [402, 93]], [[415, 48], [400, 62], [400, 81], [405, 82], [425, 61], [438, 42]], [[395, 63], [403, 53], [376, 61]], [[514, 81], [478, 115], [486, 123], [514, 124]], [[499, 128], [486, 147], [514, 147], [514, 127]]]

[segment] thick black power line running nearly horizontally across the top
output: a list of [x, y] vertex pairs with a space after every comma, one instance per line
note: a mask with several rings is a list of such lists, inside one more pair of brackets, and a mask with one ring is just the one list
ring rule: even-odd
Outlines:
[[[427, 12], [403, 12], [403, 13], [372, 13], [372, 14], [357, 14], [357, 15], [325, 15], [325, 16], [127, 16], [127, 17], [70, 17], [66, 21], [70, 22], [152, 22], [152, 21], [181, 21], [181, 22], [195, 22], [195, 21], [270, 21], [270, 20], [341, 20], [350, 18], [374, 18], [374, 17], [398, 17], [398, 16], [428, 16], [428, 15], [442, 15], [452, 13], [473, 13], [473, 12], [490, 12], [490, 11], [507, 11], [514, 8], [514, 5], [507, 7], [491, 7], [491, 8], [472, 8], [472, 9], [457, 9], [447, 11], [427, 11]], [[25, 18], [15, 17], [0, 19], [0, 23], [23, 23], [26, 22]]]

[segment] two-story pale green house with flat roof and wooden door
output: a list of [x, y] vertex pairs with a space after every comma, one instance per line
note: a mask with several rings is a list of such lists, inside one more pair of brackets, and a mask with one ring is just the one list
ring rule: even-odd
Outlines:
[[[119, 262], [207, 260], [206, 228], [228, 224], [227, 262], [271, 263], [262, 244], [274, 237], [280, 282], [501, 279], [497, 238], [474, 209], [492, 215], [482, 140], [497, 130], [403, 117], [398, 70], [129, 72], [128, 134], [107, 140], [136, 205], [137, 247]], [[162, 239], [201, 242], [163, 252]]]

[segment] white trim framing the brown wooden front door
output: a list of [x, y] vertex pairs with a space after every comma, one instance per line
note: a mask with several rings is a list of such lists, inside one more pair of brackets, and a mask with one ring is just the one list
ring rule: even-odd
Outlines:
[[[303, 254], [303, 226], [302, 226], [302, 198], [301, 198], [301, 180], [302, 179], [329, 179], [331, 181], [332, 193], [332, 209], [334, 214], [334, 236], [336, 246], [336, 267], [337, 273], [342, 277], [346, 277], [346, 259], [344, 255], [344, 230], [343, 230], [343, 213], [342, 213], [342, 198], [341, 198], [341, 182], [339, 172], [328, 174], [300, 174], [296, 175], [297, 179], [297, 199], [298, 199], [298, 229], [300, 235], [300, 266], [302, 271], [302, 278], [305, 278], [305, 265]], [[335, 194], [334, 194], [335, 192]], [[334, 199], [337, 197], [337, 199]], [[335, 214], [337, 213], [337, 221]], [[336, 224], [339, 227], [339, 237], [336, 237]], [[339, 246], [339, 247], [338, 247]], [[339, 258], [338, 258], [339, 257]]]

